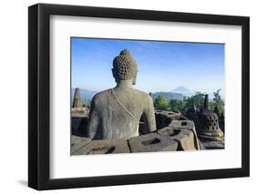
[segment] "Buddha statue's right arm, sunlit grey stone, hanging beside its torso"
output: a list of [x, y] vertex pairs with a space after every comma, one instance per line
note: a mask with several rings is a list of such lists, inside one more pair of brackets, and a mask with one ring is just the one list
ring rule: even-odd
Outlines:
[[147, 99], [145, 115], [146, 115], [147, 121], [148, 121], [149, 132], [156, 130], [157, 127], [156, 127], [155, 110], [154, 110], [152, 97], [150, 97], [150, 96], [148, 96], [148, 99]]

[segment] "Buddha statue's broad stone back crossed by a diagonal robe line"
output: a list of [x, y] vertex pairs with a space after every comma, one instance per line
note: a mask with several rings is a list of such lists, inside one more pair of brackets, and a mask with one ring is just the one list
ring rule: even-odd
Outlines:
[[89, 123], [90, 137], [128, 139], [138, 136], [139, 118], [152, 103], [147, 93], [133, 88], [113, 88], [98, 93], [92, 101], [94, 113], [90, 114], [90, 120], [98, 119], [94, 123], [98, 122], [97, 131], [93, 131], [93, 123]]

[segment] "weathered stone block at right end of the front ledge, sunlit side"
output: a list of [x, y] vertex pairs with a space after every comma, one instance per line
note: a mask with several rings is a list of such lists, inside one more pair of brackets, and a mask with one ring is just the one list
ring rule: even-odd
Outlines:
[[185, 128], [167, 127], [159, 129], [162, 136], [176, 140], [179, 143], [178, 150], [196, 150], [193, 131]]

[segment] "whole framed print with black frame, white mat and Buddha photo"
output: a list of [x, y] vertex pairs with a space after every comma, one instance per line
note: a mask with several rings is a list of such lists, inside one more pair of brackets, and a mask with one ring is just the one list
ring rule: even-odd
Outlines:
[[28, 8], [28, 185], [250, 175], [250, 19]]

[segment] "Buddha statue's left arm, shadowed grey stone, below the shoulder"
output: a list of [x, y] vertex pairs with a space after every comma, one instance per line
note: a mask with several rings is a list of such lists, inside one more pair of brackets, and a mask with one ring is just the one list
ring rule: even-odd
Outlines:
[[96, 136], [98, 120], [99, 119], [97, 114], [97, 108], [95, 107], [95, 102], [93, 100], [91, 103], [88, 124], [87, 124], [87, 138], [94, 138]]

